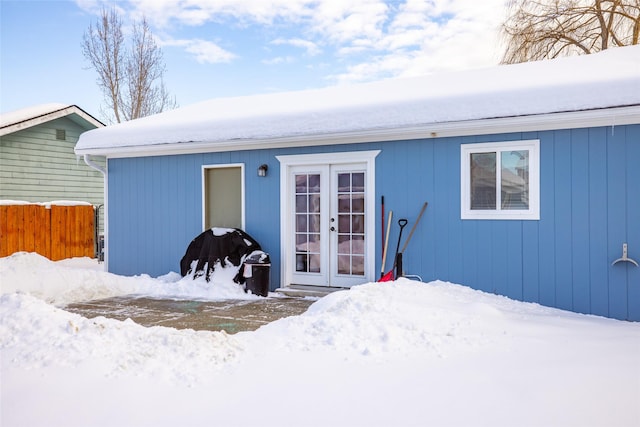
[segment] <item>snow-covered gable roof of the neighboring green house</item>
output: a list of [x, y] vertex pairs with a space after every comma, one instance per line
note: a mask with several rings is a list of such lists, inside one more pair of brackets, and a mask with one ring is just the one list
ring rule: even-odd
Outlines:
[[61, 117], [69, 117], [83, 128], [103, 127], [97, 120], [76, 105], [41, 104], [0, 114], [0, 136], [27, 129]]

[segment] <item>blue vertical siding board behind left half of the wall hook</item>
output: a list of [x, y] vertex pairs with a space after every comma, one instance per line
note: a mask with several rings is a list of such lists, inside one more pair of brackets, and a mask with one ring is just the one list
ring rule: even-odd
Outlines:
[[[625, 128], [616, 127], [607, 144], [607, 206], [610, 261], [620, 257], [622, 244], [627, 241], [627, 173], [625, 165]], [[637, 166], [635, 166], [637, 167]], [[609, 314], [618, 319], [628, 317], [627, 267], [616, 264], [609, 268]]]

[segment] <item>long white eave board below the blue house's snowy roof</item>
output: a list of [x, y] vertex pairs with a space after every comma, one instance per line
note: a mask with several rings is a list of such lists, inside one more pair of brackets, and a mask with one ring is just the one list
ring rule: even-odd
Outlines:
[[371, 129], [342, 133], [292, 135], [277, 138], [237, 139], [216, 142], [185, 141], [155, 145], [84, 149], [76, 148], [76, 154], [99, 155], [110, 158], [147, 157], [300, 146], [357, 144], [365, 142], [444, 138], [512, 132], [532, 132], [628, 124], [640, 124], [640, 104], [514, 117], [427, 123], [420, 126]]

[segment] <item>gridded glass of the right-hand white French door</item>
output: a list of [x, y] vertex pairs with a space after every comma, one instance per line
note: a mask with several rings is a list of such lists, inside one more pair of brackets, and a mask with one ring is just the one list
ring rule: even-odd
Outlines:
[[337, 272], [364, 276], [364, 172], [339, 173]]

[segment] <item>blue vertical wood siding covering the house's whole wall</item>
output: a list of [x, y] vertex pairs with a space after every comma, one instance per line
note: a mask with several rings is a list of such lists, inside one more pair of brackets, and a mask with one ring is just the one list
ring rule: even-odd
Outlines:
[[[460, 146], [540, 140], [540, 220], [461, 220]], [[202, 231], [202, 165], [245, 164], [246, 231], [272, 258], [280, 286], [278, 155], [381, 150], [376, 204], [385, 196], [413, 225], [407, 274], [448, 280], [511, 298], [640, 320], [640, 268], [611, 262], [628, 243], [640, 258], [640, 125], [353, 145], [109, 160], [109, 268], [119, 274], [177, 271]], [[269, 165], [266, 178], [256, 170]], [[380, 213], [375, 212], [376, 223]], [[385, 224], [386, 225], [386, 224]], [[376, 235], [376, 271], [382, 236]], [[405, 234], [406, 238], [406, 234]], [[387, 260], [387, 269], [391, 261]]]

